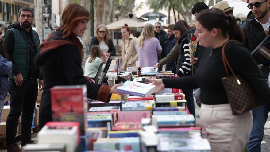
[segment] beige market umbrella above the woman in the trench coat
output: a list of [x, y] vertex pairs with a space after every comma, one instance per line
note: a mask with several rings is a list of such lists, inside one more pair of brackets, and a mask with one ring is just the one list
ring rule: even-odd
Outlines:
[[130, 28], [132, 27], [144, 27], [144, 24], [138, 21], [134, 21], [133, 19], [124, 18], [119, 21], [112, 22], [106, 25], [108, 30], [118, 30], [121, 29], [125, 24], [127, 24]]

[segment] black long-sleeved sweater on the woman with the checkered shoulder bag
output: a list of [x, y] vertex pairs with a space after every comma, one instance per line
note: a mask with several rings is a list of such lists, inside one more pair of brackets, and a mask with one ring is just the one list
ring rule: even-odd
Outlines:
[[[203, 104], [229, 103], [221, 81], [222, 77], [227, 77], [221, 52], [222, 46], [213, 49], [211, 53], [204, 53], [194, 76], [163, 79], [165, 87], [179, 89], [201, 88], [200, 99]], [[270, 88], [249, 51], [241, 43], [233, 41], [226, 45], [225, 55], [233, 72], [247, 80], [255, 88], [257, 94], [269, 109]], [[229, 74], [232, 76], [231, 73]]]

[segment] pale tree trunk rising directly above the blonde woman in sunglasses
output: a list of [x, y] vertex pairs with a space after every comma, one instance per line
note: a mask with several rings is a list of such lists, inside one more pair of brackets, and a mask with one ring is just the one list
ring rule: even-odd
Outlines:
[[95, 10], [95, 17], [94, 17], [94, 31], [98, 27], [98, 25], [103, 24], [103, 9], [105, 0], [95, 0], [94, 2], [94, 10]]

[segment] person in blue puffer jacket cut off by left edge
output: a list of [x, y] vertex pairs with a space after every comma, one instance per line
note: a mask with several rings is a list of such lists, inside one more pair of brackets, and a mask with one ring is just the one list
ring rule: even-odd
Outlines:
[[4, 108], [4, 100], [8, 92], [8, 77], [11, 75], [12, 62], [8, 61], [8, 54], [2, 41], [2, 28], [0, 27], [0, 122]]

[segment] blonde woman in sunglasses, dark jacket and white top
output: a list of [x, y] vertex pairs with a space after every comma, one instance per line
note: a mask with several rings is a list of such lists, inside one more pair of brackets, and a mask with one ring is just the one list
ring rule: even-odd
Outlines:
[[99, 45], [103, 56], [102, 61], [110, 56], [114, 56], [116, 53], [113, 40], [110, 38], [110, 33], [104, 24], [99, 25], [96, 29], [96, 34], [92, 37], [89, 48], [93, 45]]

